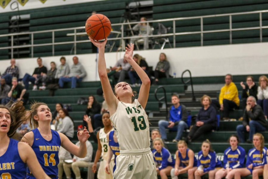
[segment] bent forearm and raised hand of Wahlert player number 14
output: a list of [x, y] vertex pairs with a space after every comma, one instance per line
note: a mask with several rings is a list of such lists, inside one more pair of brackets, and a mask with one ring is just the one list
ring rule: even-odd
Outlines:
[[84, 158], [87, 155], [87, 146], [86, 141], [89, 138], [89, 132], [84, 128], [83, 131], [77, 132], [77, 138], [80, 141], [80, 146], [74, 145], [63, 133], [60, 133], [60, 140], [61, 140], [61, 146], [63, 146], [64, 149], [66, 149], [68, 152], [71, 152], [75, 156], [79, 158]]

